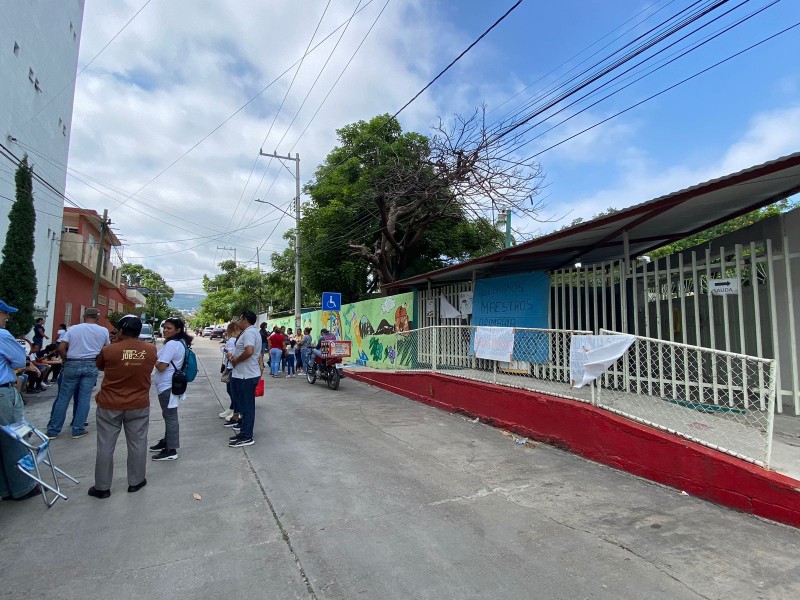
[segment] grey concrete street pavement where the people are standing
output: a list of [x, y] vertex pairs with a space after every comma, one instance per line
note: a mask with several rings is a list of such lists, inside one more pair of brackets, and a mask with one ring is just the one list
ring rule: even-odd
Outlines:
[[[121, 436], [96, 500], [94, 433], [62, 435], [81, 483], [49, 510], [0, 503], [0, 597], [800, 597], [795, 529], [352, 379], [268, 378], [256, 444], [228, 448], [219, 343], [195, 345], [208, 376], [181, 406], [180, 459], [127, 494]], [[40, 428], [53, 396], [30, 399]]]

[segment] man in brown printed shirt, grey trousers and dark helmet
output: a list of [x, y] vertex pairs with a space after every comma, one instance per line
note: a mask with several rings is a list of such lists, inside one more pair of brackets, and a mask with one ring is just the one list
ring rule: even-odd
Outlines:
[[114, 474], [114, 447], [125, 427], [128, 445], [128, 492], [145, 485], [147, 430], [150, 426], [150, 375], [156, 364], [156, 347], [139, 341], [142, 322], [128, 315], [117, 322], [117, 342], [103, 348], [97, 368], [105, 371], [97, 393], [97, 460], [89, 495], [108, 498]]

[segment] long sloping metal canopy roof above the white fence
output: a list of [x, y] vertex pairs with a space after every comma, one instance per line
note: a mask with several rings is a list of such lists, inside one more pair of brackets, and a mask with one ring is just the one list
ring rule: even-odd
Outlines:
[[395, 281], [386, 288], [397, 291], [428, 282], [464, 281], [472, 279], [473, 271], [479, 278], [495, 277], [550, 271], [576, 262], [619, 260], [624, 258], [626, 231], [634, 258], [799, 191], [800, 152], [796, 152], [460, 265]]

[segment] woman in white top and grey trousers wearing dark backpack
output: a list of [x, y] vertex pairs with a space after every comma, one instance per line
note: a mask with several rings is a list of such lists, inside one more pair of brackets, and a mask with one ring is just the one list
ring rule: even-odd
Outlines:
[[170, 317], [164, 321], [164, 345], [158, 352], [156, 372], [153, 374], [153, 383], [156, 386], [158, 402], [161, 404], [161, 414], [164, 416], [164, 437], [157, 444], [150, 446], [153, 460], [176, 460], [180, 447], [178, 428], [178, 407], [169, 408], [172, 395], [172, 376], [175, 371], [180, 371], [189, 346], [192, 345], [192, 336], [186, 333], [186, 324], [183, 319]]

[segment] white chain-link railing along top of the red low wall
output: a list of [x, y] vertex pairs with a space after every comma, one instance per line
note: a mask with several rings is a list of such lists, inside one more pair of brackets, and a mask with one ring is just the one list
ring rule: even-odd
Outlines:
[[628, 351], [595, 384], [574, 388], [572, 335], [592, 332], [513, 329], [512, 360], [504, 362], [475, 356], [475, 330], [433, 326], [397, 334], [395, 364], [589, 402], [769, 467], [776, 389], [772, 359], [634, 336]]

